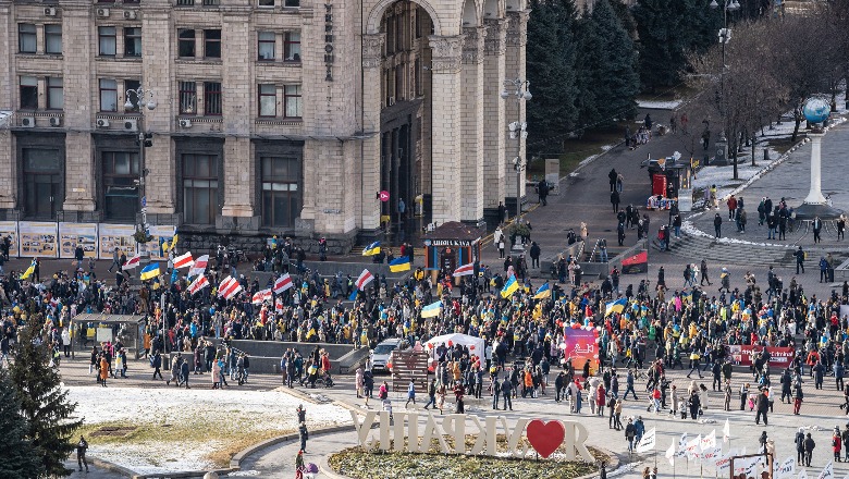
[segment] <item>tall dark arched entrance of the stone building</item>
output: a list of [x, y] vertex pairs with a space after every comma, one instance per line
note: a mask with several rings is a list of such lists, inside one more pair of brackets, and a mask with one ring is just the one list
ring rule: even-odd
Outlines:
[[380, 65], [380, 186], [391, 198], [381, 205], [381, 218], [389, 220], [390, 231], [401, 233], [417, 226], [413, 219], [418, 201], [423, 206], [421, 221], [432, 221], [428, 38], [433, 22], [424, 8], [399, 0], [384, 11], [380, 32], [385, 36]]

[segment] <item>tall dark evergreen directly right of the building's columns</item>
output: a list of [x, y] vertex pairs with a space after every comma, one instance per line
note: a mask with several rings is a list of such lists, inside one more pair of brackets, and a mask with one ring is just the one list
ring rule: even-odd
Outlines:
[[528, 20], [527, 77], [533, 99], [528, 102], [528, 124], [537, 152], [551, 138], [562, 138], [575, 126], [575, 21], [573, 0], [531, 0]]

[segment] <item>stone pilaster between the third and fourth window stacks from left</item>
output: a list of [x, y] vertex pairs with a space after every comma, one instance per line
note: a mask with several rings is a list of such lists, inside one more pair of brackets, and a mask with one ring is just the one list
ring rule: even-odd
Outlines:
[[256, 103], [254, 61], [250, 56], [250, 10], [230, 8], [223, 17], [221, 42], [226, 45], [222, 59], [224, 118], [224, 206], [216, 226], [259, 230], [256, 204], [256, 164], [250, 147], [253, 106]]

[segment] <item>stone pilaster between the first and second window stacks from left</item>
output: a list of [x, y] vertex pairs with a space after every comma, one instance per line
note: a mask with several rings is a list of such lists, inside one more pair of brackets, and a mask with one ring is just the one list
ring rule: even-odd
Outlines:
[[[63, 211], [74, 211], [70, 218], [60, 218], [69, 221], [82, 221], [77, 212], [95, 211], [95, 174], [94, 155], [91, 148], [91, 97], [98, 87], [93, 79], [93, 72], [82, 65], [90, 65], [94, 62], [91, 49], [71, 48], [67, 39], [73, 38], [82, 45], [89, 45], [90, 35], [90, 8], [70, 7], [62, 9], [62, 37], [66, 45], [63, 49], [64, 65], [62, 72], [62, 88], [64, 95], [65, 132], [65, 199]], [[90, 214], [88, 216], [90, 217]], [[91, 220], [93, 218], [86, 218]]]

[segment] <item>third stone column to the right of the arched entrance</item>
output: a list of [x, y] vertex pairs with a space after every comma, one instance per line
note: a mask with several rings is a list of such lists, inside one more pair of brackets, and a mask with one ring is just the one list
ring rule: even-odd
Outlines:
[[499, 204], [504, 201], [505, 135], [504, 100], [501, 98], [502, 82], [505, 78], [504, 61], [506, 52], [505, 19], [485, 19], [487, 39], [483, 42], [483, 209], [487, 221], [497, 224]]

